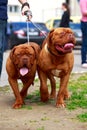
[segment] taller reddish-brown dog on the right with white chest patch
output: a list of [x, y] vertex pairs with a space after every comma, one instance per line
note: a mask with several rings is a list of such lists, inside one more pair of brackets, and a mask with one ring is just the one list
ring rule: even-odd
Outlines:
[[[47, 101], [49, 97], [56, 97], [56, 83], [54, 79], [54, 76], [56, 76], [60, 78], [56, 106], [65, 106], [64, 99], [69, 97], [67, 84], [74, 63], [72, 53], [74, 44], [75, 37], [69, 28], [57, 28], [48, 34], [38, 59], [42, 101]], [[49, 78], [51, 83], [50, 95], [47, 87], [47, 78]]]

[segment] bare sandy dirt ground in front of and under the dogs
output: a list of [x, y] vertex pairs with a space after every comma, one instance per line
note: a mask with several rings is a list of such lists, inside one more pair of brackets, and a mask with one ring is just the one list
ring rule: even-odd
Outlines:
[[[29, 93], [38, 90], [37, 83]], [[55, 101], [41, 104], [25, 100], [26, 107], [12, 109], [14, 95], [8, 87], [0, 88], [0, 130], [87, 130], [87, 122], [81, 123], [77, 115], [86, 109], [67, 110], [56, 108]]]

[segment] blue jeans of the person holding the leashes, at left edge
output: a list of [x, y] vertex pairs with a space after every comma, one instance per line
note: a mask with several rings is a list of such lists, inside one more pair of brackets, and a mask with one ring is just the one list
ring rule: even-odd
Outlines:
[[7, 21], [0, 20], [0, 76], [2, 71], [2, 63], [3, 63], [3, 52], [4, 47], [6, 45], [6, 29], [7, 29]]

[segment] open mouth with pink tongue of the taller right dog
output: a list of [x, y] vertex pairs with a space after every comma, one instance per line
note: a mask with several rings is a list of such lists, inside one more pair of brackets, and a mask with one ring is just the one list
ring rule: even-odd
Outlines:
[[55, 47], [56, 47], [57, 51], [60, 53], [69, 53], [74, 48], [74, 45], [73, 45], [73, 43], [67, 43], [63, 46], [56, 44]]

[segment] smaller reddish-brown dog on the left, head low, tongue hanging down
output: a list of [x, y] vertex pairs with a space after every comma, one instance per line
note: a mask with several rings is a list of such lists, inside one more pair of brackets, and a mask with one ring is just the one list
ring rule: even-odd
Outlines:
[[[10, 52], [6, 63], [6, 70], [9, 83], [16, 97], [13, 108], [20, 108], [23, 105], [23, 99], [27, 95], [27, 90], [33, 84], [39, 52], [40, 47], [36, 43], [18, 45]], [[21, 79], [23, 82], [21, 92], [18, 89], [18, 79]]]

